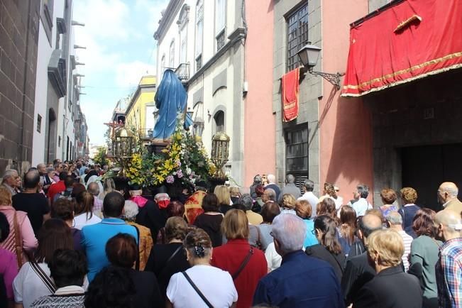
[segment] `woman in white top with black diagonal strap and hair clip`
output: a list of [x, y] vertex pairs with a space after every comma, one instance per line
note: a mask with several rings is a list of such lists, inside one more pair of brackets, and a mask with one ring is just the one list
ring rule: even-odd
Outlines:
[[183, 246], [192, 267], [170, 278], [165, 307], [231, 307], [236, 304], [238, 293], [233, 278], [228, 272], [210, 265], [213, 248], [209, 235], [202, 229], [192, 230]]

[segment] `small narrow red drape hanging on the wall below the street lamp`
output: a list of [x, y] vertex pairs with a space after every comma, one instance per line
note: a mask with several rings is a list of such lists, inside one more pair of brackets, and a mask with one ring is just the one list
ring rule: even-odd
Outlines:
[[282, 76], [282, 121], [289, 122], [298, 116], [299, 68]]

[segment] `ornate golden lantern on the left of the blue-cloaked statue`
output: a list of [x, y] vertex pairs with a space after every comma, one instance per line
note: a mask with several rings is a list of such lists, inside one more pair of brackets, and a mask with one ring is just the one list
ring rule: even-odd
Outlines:
[[112, 155], [119, 165], [121, 170], [119, 175], [125, 175], [125, 167], [131, 160], [134, 148], [134, 138], [132, 134], [126, 130], [125, 127], [119, 127], [114, 133], [112, 139]]

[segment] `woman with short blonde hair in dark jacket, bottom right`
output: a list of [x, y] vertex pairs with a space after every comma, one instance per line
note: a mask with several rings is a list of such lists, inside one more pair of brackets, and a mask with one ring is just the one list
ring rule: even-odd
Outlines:
[[397, 231], [378, 230], [368, 236], [368, 260], [377, 275], [358, 291], [358, 299], [353, 303], [355, 308], [422, 308], [419, 280], [402, 271], [404, 251]]

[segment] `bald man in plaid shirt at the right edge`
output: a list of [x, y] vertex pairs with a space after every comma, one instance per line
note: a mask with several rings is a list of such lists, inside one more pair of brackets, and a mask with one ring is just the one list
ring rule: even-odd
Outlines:
[[445, 209], [435, 215], [437, 235], [444, 240], [436, 263], [439, 307], [462, 307], [462, 219]]

